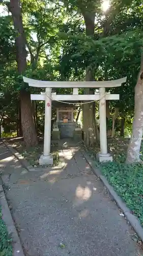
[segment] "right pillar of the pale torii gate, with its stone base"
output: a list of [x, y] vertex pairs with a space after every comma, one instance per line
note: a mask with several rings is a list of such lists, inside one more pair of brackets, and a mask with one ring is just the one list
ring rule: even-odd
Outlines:
[[107, 152], [107, 132], [106, 132], [106, 92], [105, 88], [99, 89], [99, 120], [100, 120], [100, 152], [97, 154], [99, 162], [112, 162], [112, 156]]

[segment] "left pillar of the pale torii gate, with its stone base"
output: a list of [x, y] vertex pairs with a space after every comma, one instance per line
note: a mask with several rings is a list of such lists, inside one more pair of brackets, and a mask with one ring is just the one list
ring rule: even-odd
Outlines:
[[53, 164], [53, 156], [50, 154], [51, 142], [51, 88], [46, 88], [45, 93], [45, 127], [44, 127], [44, 151], [40, 156], [39, 164]]

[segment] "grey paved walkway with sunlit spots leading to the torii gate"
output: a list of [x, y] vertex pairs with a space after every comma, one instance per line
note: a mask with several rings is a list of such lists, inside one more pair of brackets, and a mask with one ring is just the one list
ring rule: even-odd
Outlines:
[[133, 230], [77, 146], [63, 147], [65, 168], [27, 173], [0, 143], [0, 169], [27, 256], [141, 255]]

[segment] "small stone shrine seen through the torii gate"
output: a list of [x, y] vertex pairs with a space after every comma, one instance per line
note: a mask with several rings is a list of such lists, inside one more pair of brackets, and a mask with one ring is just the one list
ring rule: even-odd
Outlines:
[[74, 110], [72, 104], [63, 104], [56, 107], [56, 121], [53, 123], [52, 139], [73, 138], [77, 141], [82, 139], [82, 129], [74, 120]]

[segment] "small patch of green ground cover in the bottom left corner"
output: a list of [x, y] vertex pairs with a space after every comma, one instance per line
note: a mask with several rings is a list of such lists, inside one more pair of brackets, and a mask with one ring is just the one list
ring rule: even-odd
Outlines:
[[9, 237], [7, 227], [2, 219], [0, 208], [0, 256], [12, 256], [12, 239]]

